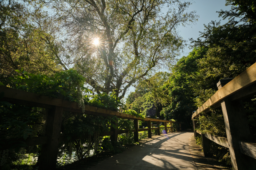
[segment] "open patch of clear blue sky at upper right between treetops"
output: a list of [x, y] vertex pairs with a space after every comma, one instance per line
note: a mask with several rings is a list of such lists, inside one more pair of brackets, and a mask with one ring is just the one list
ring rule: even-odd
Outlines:
[[[193, 2], [193, 1], [192, 1]], [[219, 14], [216, 11], [222, 10], [230, 10], [231, 6], [225, 6], [225, 0], [194, 0], [194, 3], [190, 5], [188, 11], [196, 11], [196, 14], [199, 15], [198, 21], [196, 25], [188, 26], [188, 27], [180, 27], [180, 35], [187, 40], [188, 44], [190, 44], [189, 38], [197, 39], [199, 37], [199, 31], [204, 31], [204, 24], [208, 24], [211, 21], [219, 21], [222, 18], [219, 18]], [[226, 23], [228, 20], [222, 20], [221, 24]], [[184, 49], [183, 55], [188, 55], [188, 53], [192, 51], [192, 49], [187, 48]], [[182, 55], [182, 56], [183, 56]]]

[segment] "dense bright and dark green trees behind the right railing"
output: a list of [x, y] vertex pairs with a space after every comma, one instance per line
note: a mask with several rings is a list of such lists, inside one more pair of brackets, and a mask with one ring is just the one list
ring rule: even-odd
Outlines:
[[[227, 0], [226, 5], [232, 5], [231, 10], [218, 13], [220, 17], [228, 18], [228, 22], [220, 25], [220, 22], [212, 21], [205, 25], [200, 37], [191, 39], [193, 50], [171, 65], [172, 74], [163, 85], [159, 85], [165, 95], [162, 98], [168, 99], [161, 102], [160, 114], [166, 119], [182, 121], [183, 128], [192, 128], [192, 112], [217, 92], [216, 84], [220, 79], [235, 78], [256, 62], [255, 2]], [[150, 90], [147, 87], [144, 91]], [[130, 106], [136, 106], [136, 100], [130, 103], [135, 93], [127, 99]], [[244, 100], [252, 141], [256, 141], [255, 97]], [[143, 106], [144, 101], [140, 100], [139, 106]], [[226, 137], [221, 110], [202, 113], [197, 124], [202, 133]], [[220, 162], [231, 167], [228, 149], [212, 143], [211, 152]]]

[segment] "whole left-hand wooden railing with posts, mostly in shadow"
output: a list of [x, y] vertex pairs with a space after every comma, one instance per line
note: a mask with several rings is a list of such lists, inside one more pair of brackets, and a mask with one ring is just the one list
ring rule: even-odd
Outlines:
[[[62, 123], [62, 115], [63, 111], [68, 112], [75, 112], [75, 113], [82, 113], [82, 109], [78, 107], [77, 103], [70, 102], [67, 100], [61, 100], [56, 98], [51, 98], [48, 96], [38, 96], [35, 93], [25, 92], [9, 87], [0, 86], [0, 92], [4, 92], [4, 98], [1, 100], [8, 101], [13, 104], [20, 104], [26, 106], [33, 106], [33, 107], [41, 107], [41, 108], [48, 108], [49, 112], [47, 115], [47, 125], [46, 125], [46, 133], [45, 136], [42, 137], [32, 137], [23, 140], [28, 146], [39, 145], [42, 144], [42, 151], [40, 155], [39, 161], [39, 170], [51, 170], [56, 168], [56, 160], [58, 154], [58, 147], [59, 142], [68, 140], [65, 135], [60, 134], [60, 128]], [[135, 142], [139, 141], [139, 131], [146, 131], [148, 130], [148, 137], [151, 137], [151, 130], [157, 129], [157, 135], [160, 135], [160, 129], [164, 128], [167, 132], [168, 128], [171, 128], [171, 132], [173, 132], [172, 123], [180, 124], [180, 127], [177, 131], [181, 131], [181, 122], [173, 122], [167, 121], [166, 119], [160, 120], [152, 119], [150, 116], [141, 119], [140, 117], [136, 117], [134, 115], [128, 115], [116, 111], [111, 111], [107, 109], [102, 109], [98, 107], [92, 107], [85, 105], [85, 114], [88, 115], [100, 115], [100, 116], [116, 116], [122, 119], [132, 119], [134, 122], [133, 133], [134, 133], [134, 140]], [[139, 129], [138, 121], [147, 121], [148, 128], [146, 129]], [[151, 122], [156, 122], [157, 127], [151, 128]], [[164, 122], [164, 127], [160, 127], [160, 122]], [[171, 123], [171, 127], [167, 127], [167, 123]], [[112, 122], [111, 122], [112, 123]], [[110, 131], [103, 132], [100, 136], [110, 136], [111, 141], [117, 141], [118, 134], [127, 133], [128, 130], [117, 130], [114, 129], [112, 126]], [[84, 136], [85, 138], [86, 136]], [[76, 137], [72, 139], [80, 139], [81, 137]], [[3, 140], [2, 142], [6, 143], [8, 139]], [[8, 148], [8, 144], [3, 145], [3, 148]]]

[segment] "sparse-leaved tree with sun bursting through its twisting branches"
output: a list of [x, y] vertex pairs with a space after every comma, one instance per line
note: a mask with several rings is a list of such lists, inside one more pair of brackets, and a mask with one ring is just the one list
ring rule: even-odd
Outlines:
[[66, 33], [63, 66], [74, 66], [92, 91], [115, 91], [120, 98], [136, 81], [173, 62], [184, 46], [178, 26], [197, 20], [195, 11], [187, 11], [191, 3], [177, 0], [54, 0], [49, 4]]

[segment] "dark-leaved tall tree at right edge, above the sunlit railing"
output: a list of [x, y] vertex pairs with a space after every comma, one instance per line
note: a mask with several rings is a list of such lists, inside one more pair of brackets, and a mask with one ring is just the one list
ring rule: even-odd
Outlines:
[[204, 32], [197, 40], [191, 39], [194, 43], [192, 47], [208, 49], [198, 63], [198, 73], [209, 85], [202, 88], [197, 106], [201, 106], [217, 91], [216, 83], [220, 79], [236, 77], [256, 62], [255, 2], [227, 0], [226, 5], [232, 5], [230, 11], [218, 12], [223, 19], [228, 18], [226, 24], [212, 21], [205, 25]]

